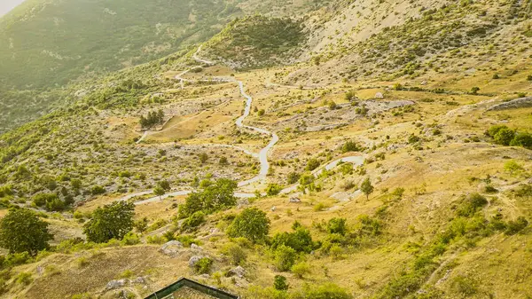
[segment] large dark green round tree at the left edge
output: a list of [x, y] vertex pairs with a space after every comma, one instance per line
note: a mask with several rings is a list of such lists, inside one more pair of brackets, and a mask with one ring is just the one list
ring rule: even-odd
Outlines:
[[39, 250], [49, 248], [53, 236], [48, 224], [29, 209], [12, 209], [0, 220], [0, 246], [10, 253], [28, 252], [35, 256]]

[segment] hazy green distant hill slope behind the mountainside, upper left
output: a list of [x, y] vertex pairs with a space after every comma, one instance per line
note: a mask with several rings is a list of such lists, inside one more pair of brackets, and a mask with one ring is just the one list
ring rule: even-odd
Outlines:
[[0, 83], [51, 86], [158, 59], [238, 12], [214, 0], [29, 0], [0, 20]]

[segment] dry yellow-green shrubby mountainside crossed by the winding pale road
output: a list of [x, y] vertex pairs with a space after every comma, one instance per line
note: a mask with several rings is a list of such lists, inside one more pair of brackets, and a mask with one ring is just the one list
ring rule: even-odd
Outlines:
[[228, 3], [205, 43], [4, 91], [56, 106], [0, 135], [0, 298], [532, 297], [532, 0]]

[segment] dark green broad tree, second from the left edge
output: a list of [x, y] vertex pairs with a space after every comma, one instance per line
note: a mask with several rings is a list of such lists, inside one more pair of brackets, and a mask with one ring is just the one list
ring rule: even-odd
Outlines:
[[117, 201], [98, 207], [90, 221], [83, 225], [83, 232], [87, 239], [97, 243], [105, 243], [108, 240], [122, 238], [133, 229], [133, 216], [135, 205], [132, 202]]

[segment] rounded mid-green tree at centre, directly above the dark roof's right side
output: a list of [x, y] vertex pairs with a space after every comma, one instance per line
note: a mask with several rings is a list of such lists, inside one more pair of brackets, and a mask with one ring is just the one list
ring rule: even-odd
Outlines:
[[262, 243], [270, 232], [270, 219], [257, 208], [248, 208], [236, 216], [228, 228], [231, 238], [244, 237], [254, 243]]

